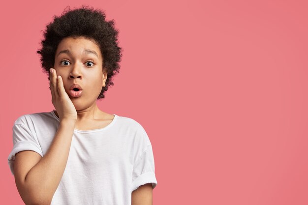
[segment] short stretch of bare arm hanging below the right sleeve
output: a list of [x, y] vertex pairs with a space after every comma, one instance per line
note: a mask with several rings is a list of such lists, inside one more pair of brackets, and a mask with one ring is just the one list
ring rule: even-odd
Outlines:
[[152, 183], [139, 186], [131, 193], [131, 205], [152, 205], [153, 187]]

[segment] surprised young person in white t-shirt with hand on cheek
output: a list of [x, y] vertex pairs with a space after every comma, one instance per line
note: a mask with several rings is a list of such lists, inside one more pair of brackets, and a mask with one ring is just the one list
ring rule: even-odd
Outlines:
[[86, 6], [47, 25], [37, 53], [55, 110], [17, 118], [8, 156], [26, 205], [152, 205], [157, 180], [146, 131], [96, 104], [119, 73], [118, 32]]

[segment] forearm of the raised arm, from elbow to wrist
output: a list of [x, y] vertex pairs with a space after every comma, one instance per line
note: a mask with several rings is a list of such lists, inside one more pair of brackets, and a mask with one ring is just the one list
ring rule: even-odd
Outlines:
[[74, 120], [62, 120], [46, 154], [26, 175], [25, 186], [34, 201], [51, 202], [66, 167], [74, 127]]

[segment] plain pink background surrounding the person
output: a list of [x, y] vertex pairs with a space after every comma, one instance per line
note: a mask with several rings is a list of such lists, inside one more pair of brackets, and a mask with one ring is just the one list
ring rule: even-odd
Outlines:
[[[23, 204], [7, 165], [13, 122], [54, 109], [41, 30], [85, 2], [1, 3], [0, 204]], [[98, 106], [146, 129], [154, 205], [308, 204], [307, 1], [87, 5], [120, 29], [120, 74]]]

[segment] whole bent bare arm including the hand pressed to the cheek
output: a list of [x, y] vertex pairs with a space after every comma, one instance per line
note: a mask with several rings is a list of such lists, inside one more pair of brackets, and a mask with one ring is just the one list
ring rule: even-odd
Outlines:
[[15, 156], [15, 183], [26, 205], [50, 205], [63, 176], [77, 111], [65, 92], [62, 77], [50, 69], [52, 103], [60, 118], [59, 128], [44, 157], [33, 151]]

